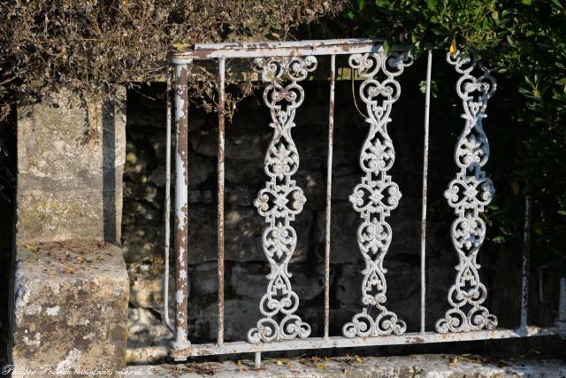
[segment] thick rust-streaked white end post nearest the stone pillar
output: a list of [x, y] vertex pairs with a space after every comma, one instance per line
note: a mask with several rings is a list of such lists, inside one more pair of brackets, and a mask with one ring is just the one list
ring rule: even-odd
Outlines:
[[188, 348], [188, 121], [187, 64], [175, 64], [175, 341], [172, 348]]

